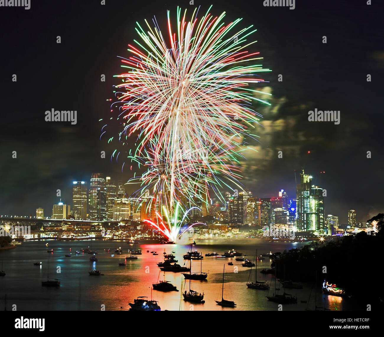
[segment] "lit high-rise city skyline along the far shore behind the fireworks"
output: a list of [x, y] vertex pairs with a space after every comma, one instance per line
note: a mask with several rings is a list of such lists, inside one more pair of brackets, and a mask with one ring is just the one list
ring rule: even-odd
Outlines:
[[[104, 178], [105, 177], [105, 178]], [[305, 174], [304, 173], [304, 170], [302, 170], [302, 173], [300, 174], [300, 179], [301, 181], [304, 183], [304, 186], [306, 186], [306, 184], [308, 184], [308, 187], [305, 187], [305, 190], [313, 190], [313, 191], [316, 191], [319, 190], [319, 192], [315, 192], [315, 197], [316, 195], [320, 195], [322, 192], [323, 192], [323, 189], [321, 187], [318, 187], [318, 186], [315, 186], [315, 185], [312, 185], [311, 184], [311, 179], [313, 177], [310, 176], [309, 174]], [[128, 213], [126, 214], [134, 214], [134, 210], [133, 210], [133, 205], [132, 205], [132, 201], [134, 201], [134, 203], [136, 204], [138, 201], [137, 197], [139, 197], [137, 194], [127, 194], [125, 193], [125, 189], [124, 189], [124, 185], [122, 184], [122, 181], [121, 180], [114, 180], [112, 179], [110, 176], [106, 176], [104, 175], [103, 173], [92, 173], [91, 174], [91, 177], [89, 178], [89, 181], [91, 181], [91, 184], [89, 184], [89, 189], [87, 189], [87, 184], [88, 184], [88, 181], [73, 181], [73, 196], [72, 196], [72, 205], [70, 202], [66, 201], [65, 198], [62, 198], [62, 197], [58, 197], [60, 198], [60, 202], [58, 202], [57, 204], [53, 204], [53, 208], [52, 208], [52, 215], [53, 215], [53, 212], [54, 212], [54, 209], [55, 207], [59, 207], [60, 208], [60, 211], [56, 211], [56, 215], [58, 213], [61, 212], [61, 214], [63, 214], [63, 204], [64, 204], [64, 212], [69, 215], [71, 214], [73, 219], [83, 219], [83, 220], [86, 220], [86, 219], [89, 219], [89, 220], [116, 220], [115, 217], [113, 217], [113, 212], [115, 211], [114, 209], [114, 204], [115, 204], [115, 201], [117, 201], [120, 205], [126, 201], [124, 201], [124, 198], [126, 198], [126, 200], [128, 201], [128, 205], [127, 205], [127, 211]], [[92, 183], [93, 181], [93, 183]], [[116, 183], [115, 181], [118, 181], [118, 183]], [[110, 186], [112, 187], [112, 190], [111, 189], [108, 189], [104, 186]], [[303, 186], [303, 184], [301, 184], [301, 187]], [[98, 196], [100, 193], [98, 192], [100, 190], [100, 187], [102, 189], [105, 189], [105, 196], [104, 196], [104, 206], [102, 205], [103, 210], [103, 214], [102, 216], [100, 215], [100, 209], [96, 209], [96, 207], [94, 207], [93, 209], [93, 206], [92, 204], [94, 203], [94, 201], [97, 199], [96, 196]], [[81, 190], [79, 190], [79, 188], [82, 188]], [[314, 189], [313, 189], [314, 188]], [[93, 190], [96, 191], [96, 194], [93, 195]], [[79, 192], [77, 192], [79, 191]], [[234, 190], [233, 192], [236, 194], [237, 190]], [[248, 191], [248, 192], [246, 192]], [[149, 192], [149, 191], [148, 191]], [[107, 195], [111, 194], [112, 193], [112, 196], [113, 197], [109, 197], [109, 201], [107, 202]], [[125, 193], [125, 194], [123, 194]], [[198, 199], [196, 201], [193, 201], [192, 199], [190, 201], [188, 201], [188, 204], [190, 204], [190, 202], [192, 202], [192, 204], [190, 205], [198, 205], [200, 207], [200, 209], [203, 209], [203, 213], [201, 214], [201, 212], [192, 212], [191, 213], [191, 216], [193, 217], [194, 215], [199, 215], [202, 216], [202, 215], [214, 215], [216, 217], [217, 220], [219, 219], [222, 219], [222, 220], [226, 220], [228, 223], [233, 223], [233, 224], [247, 224], [247, 223], [256, 223], [256, 224], [259, 224], [259, 225], [270, 225], [270, 224], [276, 224], [276, 221], [275, 221], [275, 216], [278, 216], [279, 219], [281, 218], [281, 216], [284, 216], [284, 214], [286, 213], [286, 217], [287, 219], [289, 218], [290, 220], [287, 220], [286, 224], [291, 224], [293, 225], [293, 219], [291, 219], [292, 217], [292, 212], [290, 212], [290, 205], [288, 205], [288, 202], [294, 202], [295, 203], [295, 212], [296, 212], [296, 202], [297, 202], [297, 197], [299, 198], [300, 200], [300, 196], [301, 196], [301, 192], [300, 192], [300, 184], [298, 184], [296, 186], [296, 195], [294, 197], [289, 197], [286, 193], [286, 191], [284, 191], [283, 189], [281, 189], [281, 191], [277, 192], [277, 196], [270, 196], [270, 197], [258, 197], [256, 195], [253, 195], [253, 191], [249, 191], [248, 189], [245, 189], [244, 191], [240, 191], [240, 196], [241, 199], [243, 201], [240, 201], [237, 202], [237, 198], [233, 198], [233, 196], [235, 196], [235, 194], [231, 194], [230, 192], [226, 191], [225, 193], [225, 203], [218, 203], [218, 200], [217, 199], [214, 199], [214, 200], [211, 200], [211, 204], [210, 207], [204, 211], [203, 207], [202, 206], [202, 202], [199, 201]], [[326, 192], [325, 192], [326, 193]], [[144, 196], [144, 195], [143, 195]], [[147, 197], [149, 197], [149, 194], [147, 195]], [[244, 197], [244, 199], [243, 199]], [[310, 196], [308, 195], [308, 198]], [[85, 199], [84, 199], [85, 198]], [[311, 197], [312, 198], [312, 197]], [[318, 197], [316, 197], [318, 198]], [[73, 205], [78, 202], [78, 199], [80, 199], [83, 204], [83, 210], [80, 210], [80, 206], [76, 206], [76, 207], [73, 207]], [[144, 197], [144, 199], [146, 199]], [[232, 200], [231, 200], [232, 199]], [[235, 199], [235, 200], [233, 200]], [[254, 200], [253, 203], [255, 204], [255, 209], [253, 210], [247, 210], [247, 199], [248, 201], [249, 200]], [[325, 198], [326, 199], [326, 198]], [[75, 202], [76, 200], [76, 202]], [[312, 200], [312, 199], [311, 199]], [[324, 202], [324, 197], [321, 198], [321, 203]], [[232, 203], [231, 203], [232, 201]], [[276, 201], [277, 204], [276, 204]], [[100, 202], [100, 199], [98, 199], [98, 202]], [[197, 202], [197, 204], [196, 204]], [[233, 202], [236, 202], [238, 206], [234, 206], [233, 205]], [[263, 215], [263, 210], [261, 210], [260, 212], [260, 207], [259, 207], [259, 210], [257, 210], [257, 203], [262, 203], [264, 204], [265, 202], [267, 202], [268, 204], [268, 209], [270, 211], [268, 211], [269, 213], [266, 213], [265, 215]], [[308, 202], [310, 202], [310, 199], [308, 199]], [[185, 203], [185, 201], [184, 201]], [[144, 203], [145, 204], [145, 203]], [[300, 201], [299, 201], [299, 208], [300, 208]], [[84, 210], [84, 205], [85, 205], [85, 208], [86, 210]], [[218, 208], [220, 209], [223, 209], [223, 207], [225, 208], [225, 212], [221, 212], [222, 214], [226, 214], [226, 217], [227, 219], [224, 219], [222, 218], [222, 216], [217, 216], [220, 212], [216, 213], [215, 211], [215, 205], [218, 205]], [[72, 207], [72, 211], [71, 211], [71, 207]], [[108, 210], [108, 207], [110, 207], [110, 211], [109, 213], [107, 212]], [[115, 205], [116, 207], [116, 205]], [[189, 207], [189, 206], [188, 206]], [[233, 207], [237, 207], [235, 210], [233, 210]], [[316, 206], [317, 207], [317, 206]], [[44, 207], [36, 207], [36, 217], [38, 215], [38, 210], [39, 212], [41, 212], [41, 209], [43, 210], [43, 212], [45, 212], [45, 215], [46, 217], [48, 218], [51, 218], [51, 219], [59, 219], [57, 216], [56, 217], [51, 217], [51, 216], [48, 216], [47, 214], [51, 214], [51, 212], [49, 211], [49, 208], [46, 208], [44, 209]], [[77, 211], [77, 209], [79, 209]], [[116, 208], [117, 209], [117, 208]], [[146, 210], [141, 210], [142, 207], [140, 206], [140, 209], [139, 209], [139, 212], [142, 212], [141, 213], [141, 216], [140, 215], [136, 215], [137, 217], [137, 220], [138, 221], [142, 221], [144, 220], [144, 214], [146, 217], [148, 217], [147, 215], [147, 211]], [[263, 207], [263, 209], [265, 209]], [[275, 209], [276, 209], [276, 212], [275, 212]], [[280, 210], [280, 211], [279, 211]], [[293, 210], [293, 209], [292, 209]], [[350, 213], [351, 213], [351, 210], [353, 210], [353, 214], [354, 214], [354, 217], [353, 217], [353, 221], [350, 220]], [[79, 214], [83, 214], [83, 217], [82, 218]], [[122, 210], [119, 210], [118, 212], [123, 212], [121, 214], [125, 214], [124, 211]], [[151, 211], [149, 211], [151, 212]], [[205, 213], [204, 213], [205, 212]], [[258, 213], [259, 212], [259, 213]], [[278, 213], [280, 212], [279, 215], [277, 215]], [[307, 211], [308, 212], [308, 211]], [[314, 210], [312, 211], [314, 212]], [[318, 212], [316, 210], [316, 212]], [[33, 212], [30, 212], [31, 214], [34, 214]], [[250, 219], [252, 219], [250, 217], [250, 214], [253, 213], [255, 214], [253, 219], [258, 219], [260, 217], [260, 219], [252, 222], [250, 221]], [[326, 227], [325, 225], [325, 222], [326, 222], [326, 219], [328, 218], [328, 215], [333, 215], [333, 217], [337, 217], [338, 219], [338, 224], [340, 225], [351, 225], [352, 223], [355, 223], [355, 224], [358, 224], [358, 223], [362, 223], [364, 224], [365, 223], [365, 220], [362, 220], [362, 221], [358, 221], [356, 220], [356, 211], [353, 209], [353, 207], [350, 207], [347, 211], [346, 211], [346, 218], [347, 220], [346, 221], [343, 221], [343, 220], [340, 220], [339, 219], [343, 219], [343, 215], [344, 214], [340, 214], [340, 212], [338, 214], [334, 213], [334, 214], [331, 214], [329, 212], [326, 212], [326, 208], [324, 209], [324, 207], [322, 206], [321, 208], [321, 217], [323, 218], [323, 220], [321, 220], [321, 224], [318, 224], [318, 221], [319, 219], [316, 220], [316, 224], [314, 222], [314, 220], [312, 220], [313, 222], [313, 225], [311, 225], [311, 227], [308, 227], [308, 229], [319, 229], [319, 228], [322, 228], [322, 227]], [[77, 214], [77, 215], [76, 215]], [[84, 214], [88, 214], [88, 217], [85, 216]], [[107, 215], [109, 214], [109, 215]], [[233, 215], [235, 214], [235, 215]], [[240, 215], [241, 214], [241, 215]], [[307, 225], [302, 225], [300, 223], [300, 210], [297, 212], [298, 215], [296, 215], [297, 217], [297, 229], [298, 230], [306, 230], [307, 229]], [[33, 217], [34, 215], [32, 215]], [[318, 216], [318, 215], [317, 215]], [[267, 220], [263, 220], [263, 217], [268, 217]], [[273, 218], [272, 218], [273, 217]], [[141, 219], [142, 218], [142, 219]], [[151, 218], [151, 217], [149, 217]], [[240, 221], [239, 219], [242, 219], [242, 221]], [[65, 219], [65, 217], [64, 217]], [[119, 218], [119, 219], [124, 219], [124, 218]], [[117, 220], [119, 220], [117, 219]], [[128, 219], [128, 218], [127, 218]], [[136, 218], [135, 218], [136, 219]], [[358, 218], [359, 219], [359, 218]], [[283, 223], [284, 224], [284, 223]], [[295, 222], [295, 227], [296, 227], [296, 222]]]

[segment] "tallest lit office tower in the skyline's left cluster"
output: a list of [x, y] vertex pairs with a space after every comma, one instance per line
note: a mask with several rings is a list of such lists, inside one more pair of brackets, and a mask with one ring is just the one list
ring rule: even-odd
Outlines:
[[89, 219], [105, 220], [107, 208], [107, 189], [105, 179], [101, 173], [91, 175], [89, 184]]

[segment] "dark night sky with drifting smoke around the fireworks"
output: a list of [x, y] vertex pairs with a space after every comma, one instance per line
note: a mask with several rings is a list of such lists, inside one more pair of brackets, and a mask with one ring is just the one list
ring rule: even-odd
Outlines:
[[[99, 122], [110, 116], [107, 100], [118, 84], [113, 75], [121, 71], [117, 56], [129, 56], [136, 21], [144, 25], [156, 15], [166, 29], [167, 10], [175, 20], [178, 5], [187, 8], [187, 16], [199, 5], [201, 15], [209, 7], [186, 0], [100, 2], [31, 0], [30, 10], [0, 7], [2, 215], [34, 216], [43, 207], [50, 216], [59, 201], [56, 189], [72, 205], [72, 181], [89, 184], [92, 172], [120, 178], [122, 161], [110, 160], [116, 146], [105, 136], [100, 140]], [[271, 87], [272, 106], [255, 106], [264, 115], [256, 130], [260, 144], [253, 144], [259, 152], [247, 156], [243, 170], [242, 182], [255, 196], [276, 197], [284, 189], [294, 198], [294, 170], [299, 178], [303, 167], [314, 184], [327, 189], [325, 212], [338, 215], [341, 224], [350, 208], [358, 221], [383, 212], [383, 7], [372, 3], [296, 0], [290, 10], [263, 7], [259, 0], [212, 1], [213, 15], [225, 11], [225, 22], [242, 17], [240, 26], [257, 28], [258, 42], [250, 50], [260, 51], [263, 66], [272, 69], [262, 76], [270, 82], [263, 86]], [[52, 108], [77, 110], [77, 124], [45, 122]], [[340, 124], [308, 122], [314, 108], [340, 110]], [[118, 131], [108, 129], [114, 136]], [[122, 179], [133, 172], [126, 163]]]

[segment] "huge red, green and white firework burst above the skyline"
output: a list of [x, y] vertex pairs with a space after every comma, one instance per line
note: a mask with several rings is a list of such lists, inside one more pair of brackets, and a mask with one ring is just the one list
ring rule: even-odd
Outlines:
[[264, 81], [258, 73], [270, 71], [258, 64], [258, 52], [247, 51], [256, 30], [238, 29], [241, 19], [225, 24], [225, 13], [209, 10], [198, 18], [195, 9], [188, 20], [178, 8], [175, 30], [168, 12], [164, 34], [156, 19], [152, 26], [145, 21], [146, 31], [137, 24], [141, 40], [128, 45], [125, 71], [116, 75], [119, 140], [135, 139], [128, 159], [146, 168], [131, 182], [141, 183], [138, 193], [160, 195], [169, 213], [180, 196], [206, 202], [210, 192], [223, 199], [228, 183], [239, 186], [244, 138], [256, 137], [261, 117], [252, 104], [269, 105], [252, 87]]

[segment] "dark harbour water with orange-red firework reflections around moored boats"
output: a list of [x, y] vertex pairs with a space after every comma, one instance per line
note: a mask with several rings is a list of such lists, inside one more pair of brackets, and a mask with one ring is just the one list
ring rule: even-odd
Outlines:
[[[48, 243], [48, 247], [46, 247]], [[298, 248], [304, 243], [296, 242], [267, 242], [260, 239], [255, 240], [197, 240], [197, 245], [192, 250], [205, 253], [218, 252], [222, 254], [228, 250], [237, 250], [247, 254], [245, 258], [253, 260], [255, 250], [258, 255], [268, 252], [283, 252], [291, 248]], [[97, 250], [98, 261], [95, 262], [96, 269], [104, 276], [89, 276], [88, 271], [92, 268], [89, 261], [91, 255], [81, 252], [76, 255], [76, 250], [91, 247]], [[116, 255], [114, 250], [122, 248], [122, 255]], [[126, 260], [126, 266], [119, 266], [119, 262], [125, 260], [129, 255], [128, 250], [141, 249], [142, 255], [137, 260]], [[12, 305], [17, 310], [129, 310], [129, 302], [137, 296], [148, 296], [151, 299], [152, 283], [158, 280], [170, 281], [177, 287], [179, 292], [172, 291], [164, 293], [152, 290], [152, 299], [159, 302], [161, 310], [251, 310], [251, 311], [276, 311], [277, 303], [270, 302], [266, 295], [275, 293], [274, 276], [264, 275], [260, 270], [270, 268], [270, 260], [265, 259], [258, 262], [258, 280], [268, 281], [270, 290], [248, 289], [245, 285], [255, 279], [255, 268], [243, 267], [243, 262], [235, 261], [235, 258], [219, 258], [216, 256], [204, 256], [202, 260], [202, 271], [208, 272], [205, 281], [191, 281], [191, 289], [199, 293], [204, 292], [204, 304], [186, 302], [182, 299], [182, 292], [189, 290], [189, 280], [184, 280], [180, 273], [161, 272], [156, 263], [163, 261], [164, 250], [167, 253], [175, 251], [178, 264], [183, 266], [189, 264], [184, 261], [183, 255], [189, 250], [189, 245], [129, 245], [123, 241], [30, 241], [18, 245], [11, 250], [0, 251], [0, 260], [3, 260], [3, 270], [6, 276], [0, 277], [0, 310], [5, 307], [5, 294], [7, 295], [7, 310]], [[53, 253], [47, 250], [53, 249]], [[108, 253], [107, 250], [110, 249]], [[147, 253], [152, 250], [159, 255]], [[66, 257], [70, 254], [71, 257]], [[114, 256], [111, 256], [113, 255]], [[49, 259], [49, 263], [48, 263]], [[229, 261], [233, 266], [228, 266]], [[41, 266], [33, 263], [42, 262]], [[49, 265], [49, 268], [48, 268]], [[224, 275], [224, 298], [235, 301], [235, 308], [218, 306], [215, 300], [221, 299], [223, 266]], [[59, 268], [60, 267], [60, 268]], [[60, 279], [59, 288], [46, 288], [41, 286], [41, 281], [47, 279], [49, 269], [50, 278]], [[60, 271], [57, 273], [56, 271]], [[200, 261], [192, 261], [192, 273], [200, 271]], [[238, 271], [238, 272], [236, 272]], [[278, 287], [278, 283], [277, 283]], [[318, 307], [330, 310], [343, 310], [343, 298], [321, 294], [316, 289]], [[303, 289], [285, 289], [298, 298], [297, 304], [284, 304], [283, 310], [314, 310], [315, 289], [313, 284], [303, 284]], [[279, 294], [284, 292], [280, 286]], [[307, 301], [307, 303], [301, 303]], [[123, 307], [123, 308], [121, 308]]]

